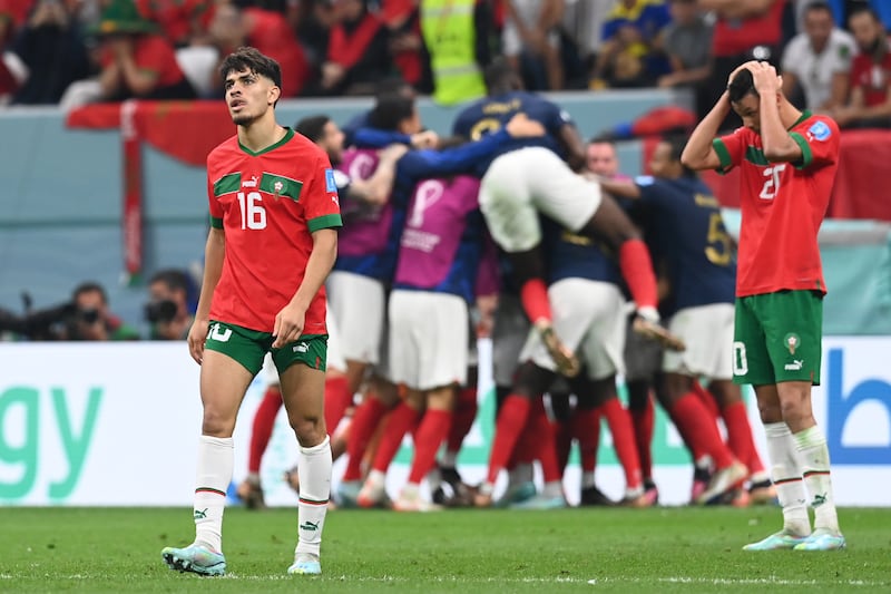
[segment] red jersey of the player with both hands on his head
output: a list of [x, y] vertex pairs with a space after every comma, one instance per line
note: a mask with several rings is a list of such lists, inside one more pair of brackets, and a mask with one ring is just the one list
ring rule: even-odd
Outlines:
[[748, 128], [716, 138], [721, 171], [740, 167], [743, 214], [736, 296], [783, 289], [826, 292], [816, 234], [839, 167], [839, 126], [805, 111], [790, 128], [799, 163], [768, 163]]

